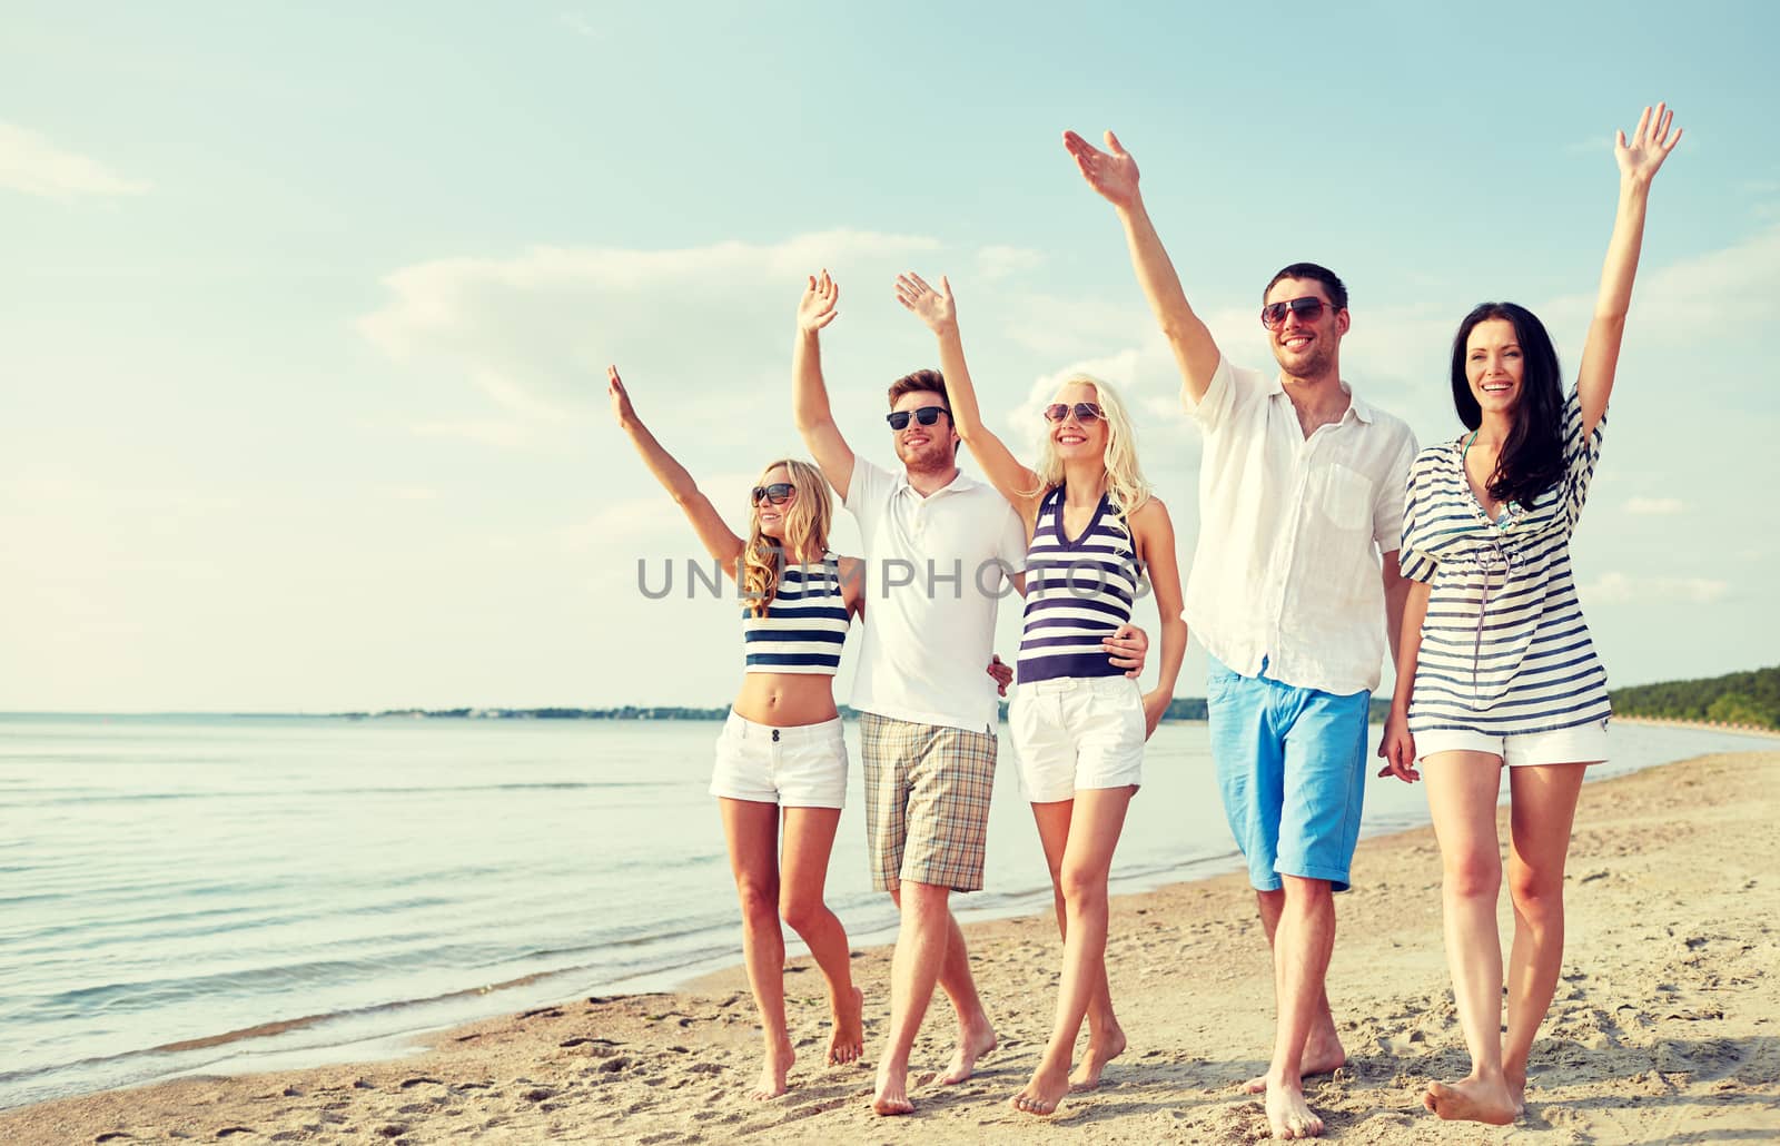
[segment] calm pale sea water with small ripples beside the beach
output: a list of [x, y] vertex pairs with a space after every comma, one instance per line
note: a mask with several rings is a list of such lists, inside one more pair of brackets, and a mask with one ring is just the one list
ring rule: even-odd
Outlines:
[[[397, 1053], [418, 1030], [740, 961], [716, 722], [0, 715], [0, 1107]], [[1600, 776], [1746, 737], [1614, 726]], [[870, 890], [858, 731], [829, 876]], [[1376, 740], [1376, 730], [1374, 730]], [[1007, 737], [986, 893], [1048, 908]], [[1426, 822], [1374, 781], [1367, 833]], [[1166, 724], [1118, 890], [1237, 867], [1203, 724]]]

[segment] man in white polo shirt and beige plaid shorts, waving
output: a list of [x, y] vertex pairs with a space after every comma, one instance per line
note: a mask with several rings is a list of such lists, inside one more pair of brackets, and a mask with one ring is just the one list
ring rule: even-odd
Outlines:
[[[1025, 525], [991, 486], [958, 470], [945, 379], [917, 370], [890, 386], [901, 472], [856, 457], [835, 425], [819, 331], [838, 290], [824, 270], [797, 308], [792, 413], [865, 543], [865, 644], [853, 685], [865, 760], [872, 881], [902, 925], [890, 964], [890, 1027], [872, 1109], [908, 1114], [908, 1057], [934, 982], [958, 1013], [958, 1052], [938, 1082], [961, 1082], [995, 1048], [995, 1027], [970, 975], [952, 892], [983, 886], [995, 783], [995, 685], [984, 676], [995, 607], [1024, 591]], [[1120, 630], [1114, 664], [1141, 667], [1146, 639]]]

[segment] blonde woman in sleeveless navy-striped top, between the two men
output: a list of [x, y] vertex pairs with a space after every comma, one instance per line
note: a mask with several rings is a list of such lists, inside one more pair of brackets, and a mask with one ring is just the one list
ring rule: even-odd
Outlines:
[[[952, 424], [1027, 532], [1025, 632], [1007, 722], [1064, 947], [1050, 1043], [1009, 1102], [1050, 1114], [1070, 1089], [1096, 1085], [1125, 1050], [1105, 975], [1107, 872], [1141, 779], [1143, 744], [1173, 698], [1187, 648], [1175, 527], [1143, 480], [1130, 420], [1111, 386], [1086, 375], [1064, 383], [1043, 411], [1040, 463], [1027, 468], [983, 425], [951, 283], [942, 278], [934, 290], [904, 274], [895, 294], [938, 338]], [[1162, 628], [1161, 682], [1148, 694], [1102, 648], [1130, 621], [1145, 571]], [[1084, 1018], [1088, 1053], [1072, 1075]]]

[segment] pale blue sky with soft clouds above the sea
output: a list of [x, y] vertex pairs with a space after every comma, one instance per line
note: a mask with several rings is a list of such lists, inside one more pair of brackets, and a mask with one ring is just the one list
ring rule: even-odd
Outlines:
[[737, 610], [687, 600], [700, 550], [603, 368], [740, 529], [764, 463], [806, 456], [789, 359], [822, 267], [854, 450], [894, 463], [885, 386], [936, 365], [895, 272], [947, 274], [1018, 454], [1064, 374], [1123, 388], [1185, 564], [1198, 434], [1064, 128], [1136, 155], [1234, 361], [1271, 367], [1278, 267], [1333, 267], [1344, 377], [1429, 443], [1483, 299], [1574, 375], [1613, 132], [1657, 100], [1686, 141], [1582, 603], [1618, 685], [1780, 662], [1780, 9], [1444, 9], [9, 0], [0, 710], [726, 703]]

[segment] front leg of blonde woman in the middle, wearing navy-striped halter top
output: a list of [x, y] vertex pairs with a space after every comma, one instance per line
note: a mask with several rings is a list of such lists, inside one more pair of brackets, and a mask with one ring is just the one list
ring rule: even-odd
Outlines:
[[1016, 1110], [1050, 1114], [1070, 1089], [1075, 1037], [1095, 993], [1105, 989], [1107, 872], [1125, 826], [1130, 794], [1130, 787], [1084, 788], [1075, 794], [1061, 872], [1066, 924], [1057, 1020], [1038, 1071], [1013, 1096]]

